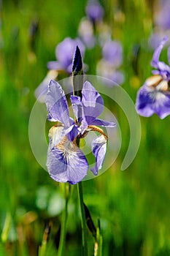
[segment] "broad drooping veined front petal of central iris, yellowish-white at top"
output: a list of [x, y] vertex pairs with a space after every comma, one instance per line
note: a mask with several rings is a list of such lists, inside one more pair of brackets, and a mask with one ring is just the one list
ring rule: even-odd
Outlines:
[[50, 140], [47, 169], [55, 181], [77, 184], [87, 175], [88, 162], [76, 140], [70, 142], [65, 136], [56, 146]]

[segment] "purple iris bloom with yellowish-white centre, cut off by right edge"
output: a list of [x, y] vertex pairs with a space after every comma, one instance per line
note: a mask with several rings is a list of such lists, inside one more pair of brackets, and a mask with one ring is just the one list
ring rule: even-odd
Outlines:
[[[152, 77], [144, 82], [144, 86], [139, 89], [136, 98], [136, 110], [141, 116], [152, 116], [157, 113], [163, 119], [170, 114], [170, 67], [163, 61], [159, 61], [161, 50], [167, 41], [164, 37], [153, 54], [151, 65], [155, 68]], [[170, 48], [169, 48], [170, 50]], [[168, 58], [170, 63], [170, 51]]]

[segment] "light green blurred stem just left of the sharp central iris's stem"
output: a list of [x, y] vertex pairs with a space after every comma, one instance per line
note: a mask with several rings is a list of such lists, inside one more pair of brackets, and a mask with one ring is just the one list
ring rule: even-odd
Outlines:
[[64, 184], [65, 187], [65, 208], [63, 210], [63, 216], [61, 220], [61, 237], [60, 237], [60, 243], [58, 246], [58, 256], [63, 256], [65, 244], [66, 244], [66, 222], [67, 222], [67, 210], [68, 210], [68, 201], [69, 201], [69, 196], [67, 193], [68, 190], [68, 184]]

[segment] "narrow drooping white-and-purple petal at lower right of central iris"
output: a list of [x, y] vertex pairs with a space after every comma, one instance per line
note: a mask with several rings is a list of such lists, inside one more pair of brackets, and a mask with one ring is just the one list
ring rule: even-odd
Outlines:
[[98, 175], [98, 170], [101, 169], [104, 157], [107, 151], [107, 138], [104, 135], [100, 135], [98, 138], [92, 142], [93, 155], [96, 158], [96, 164], [91, 168], [94, 175]]

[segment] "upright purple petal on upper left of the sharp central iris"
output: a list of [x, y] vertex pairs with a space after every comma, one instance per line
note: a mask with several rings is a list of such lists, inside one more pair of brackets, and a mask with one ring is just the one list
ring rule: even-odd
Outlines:
[[60, 121], [65, 127], [69, 127], [70, 118], [66, 96], [61, 85], [55, 80], [50, 81], [45, 103], [48, 110], [48, 119], [50, 121]]

